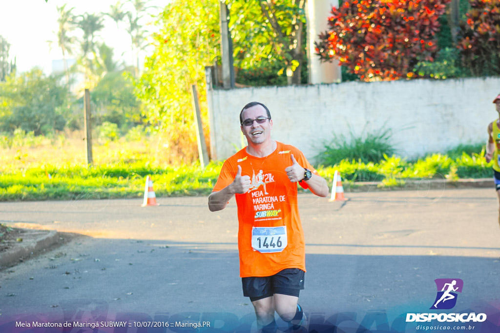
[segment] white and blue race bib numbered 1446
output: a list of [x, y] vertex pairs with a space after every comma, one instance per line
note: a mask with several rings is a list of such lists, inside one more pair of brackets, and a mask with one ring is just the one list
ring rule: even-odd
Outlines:
[[286, 227], [253, 227], [251, 247], [260, 253], [281, 252], [288, 245]]

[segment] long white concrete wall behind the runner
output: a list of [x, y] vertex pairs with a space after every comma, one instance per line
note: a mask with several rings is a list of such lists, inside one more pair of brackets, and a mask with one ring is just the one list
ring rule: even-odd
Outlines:
[[334, 135], [350, 138], [350, 132], [381, 128], [392, 130], [401, 156], [445, 152], [486, 141], [487, 124], [498, 117], [492, 103], [498, 92], [499, 77], [211, 90], [212, 152], [223, 160], [246, 145], [238, 116], [250, 101], [269, 108], [275, 140], [296, 146], [312, 161]]

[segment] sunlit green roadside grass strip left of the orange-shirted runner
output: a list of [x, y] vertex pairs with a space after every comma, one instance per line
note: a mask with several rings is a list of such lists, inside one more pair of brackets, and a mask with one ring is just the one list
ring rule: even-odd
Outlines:
[[220, 163], [211, 163], [205, 169], [147, 168], [139, 163], [89, 169], [45, 166], [0, 175], [0, 201], [140, 198], [146, 175], [153, 180], [156, 197], [207, 195], [215, 185], [220, 166]]

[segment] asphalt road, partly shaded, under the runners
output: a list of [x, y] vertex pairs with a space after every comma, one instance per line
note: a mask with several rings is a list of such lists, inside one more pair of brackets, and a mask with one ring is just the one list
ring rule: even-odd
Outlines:
[[[494, 190], [422, 187], [346, 197], [344, 205], [299, 198], [307, 266], [300, 304], [310, 325], [347, 316], [337, 332], [356, 332], [359, 324], [397, 331], [398, 316], [429, 312], [435, 279], [456, 278], [464, 285], [453, 311], [488, 312], [488, 325], [500, 329]], [[0, 272], [0, 332], [33, 318], [207, 320], [222, 331], [249, 331], [254, 315], [238, 277], [234, 201], [216, 213], [206, 197], [157, 201], [144, 208], [138, 199], [1, 203], [1, 223], [86, 236]]]

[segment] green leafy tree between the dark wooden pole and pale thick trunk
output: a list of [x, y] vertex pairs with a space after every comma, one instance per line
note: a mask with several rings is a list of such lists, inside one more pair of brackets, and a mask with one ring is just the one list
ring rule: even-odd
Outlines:
[[234, 63], [251, 68], [282, 61], [288, 84], [300, 84], [305, 46], [305, 0], [231, 0]]

